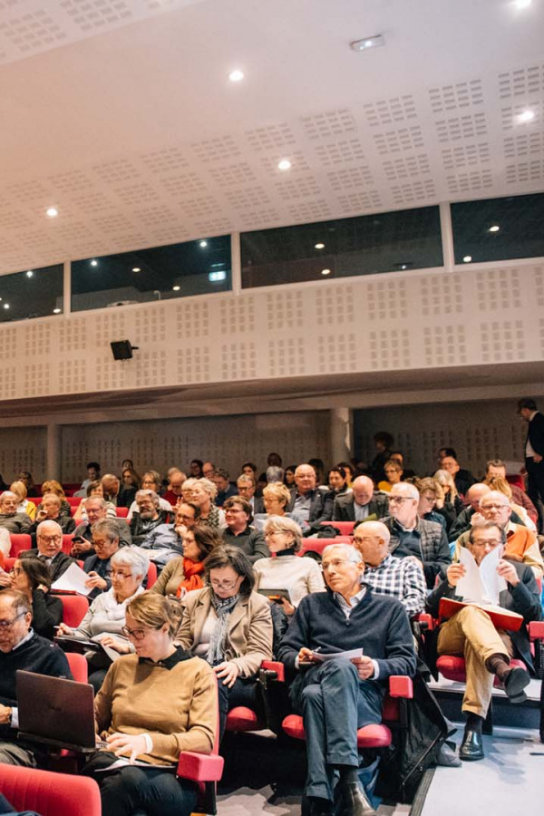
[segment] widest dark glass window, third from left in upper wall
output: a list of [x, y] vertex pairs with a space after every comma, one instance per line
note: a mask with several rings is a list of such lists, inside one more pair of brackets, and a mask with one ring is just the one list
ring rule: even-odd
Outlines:
[[443, 263], [438, 207], [244, 232], [240, 240], [243, 287], [375, 275]]

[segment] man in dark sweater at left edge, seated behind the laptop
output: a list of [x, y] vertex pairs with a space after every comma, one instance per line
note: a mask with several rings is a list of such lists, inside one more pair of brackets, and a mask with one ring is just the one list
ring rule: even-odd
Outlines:
[[[35, 767], [32, 746], [17, 739], [16, 672], [49, 677], [73, 676], [61, 649], [34, 632], [32, 604], [24, 592], [0, 592], [0, 763]], [[0, 772], [0, 776], [1, 776]]]

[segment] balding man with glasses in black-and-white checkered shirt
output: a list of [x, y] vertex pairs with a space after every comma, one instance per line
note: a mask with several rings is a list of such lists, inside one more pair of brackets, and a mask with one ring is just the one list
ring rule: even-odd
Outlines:
[[415, 559], [394, 559], [389, 553], [390, 532], [381, 521], [361, 522], [354, 544], [364, 561], [364, 583], [379, 595], [403, 603], [408, 617], [423, 612], [427, 596], [423, 569]]

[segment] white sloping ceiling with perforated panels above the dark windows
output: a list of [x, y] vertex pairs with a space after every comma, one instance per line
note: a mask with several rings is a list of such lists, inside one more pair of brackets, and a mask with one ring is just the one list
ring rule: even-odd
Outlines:
[[0, 272], [544, 189], [542, 34], [544, 0], [0, 0]]

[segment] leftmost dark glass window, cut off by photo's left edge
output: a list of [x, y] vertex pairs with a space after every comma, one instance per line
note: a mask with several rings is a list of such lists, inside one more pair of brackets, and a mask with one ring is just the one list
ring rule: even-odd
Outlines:
[[0, 322], [63, 312], [63, 264], [0, 276]]

